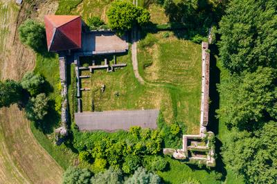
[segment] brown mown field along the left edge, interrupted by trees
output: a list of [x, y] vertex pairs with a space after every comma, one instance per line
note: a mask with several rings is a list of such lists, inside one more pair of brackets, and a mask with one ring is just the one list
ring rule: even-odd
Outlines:
[[[1, 80], [20, 80], [35, 65], [35, 54], [21, 45], [15, 34], [17, 24], [31, 16], [26, 15], [25, 8], [28, 9], [24, 5], [19, 10], [15, 1], [0, 0]], [[0, 183], [60, 183], [62, 172], [62, 168], [33, 137], [24, 111], [16, 105], [1, 109]]]

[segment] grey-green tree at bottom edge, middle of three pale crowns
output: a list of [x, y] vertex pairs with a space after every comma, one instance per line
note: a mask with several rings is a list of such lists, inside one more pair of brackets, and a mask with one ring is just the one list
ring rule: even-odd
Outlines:
[[91, 178], [91, 184], [120, 184], [123, 183], [123, 173], [120, 169], [109, 168], [105, 172], [100, 172]]

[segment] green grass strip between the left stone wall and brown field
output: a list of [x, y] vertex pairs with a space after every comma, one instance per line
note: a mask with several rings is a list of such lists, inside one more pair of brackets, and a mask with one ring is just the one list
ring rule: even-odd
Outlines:
[[[59, 74], [59, 59], [55, 54], [40, 55], [37, 54], [37, 61], [35, 65], [35, 72], [42, 74], [46, 79], [48, 98], [50, 104], [53, 107], [55, 100], [60, 97], [60, 74]], [[73, 163], [75, 154], [71, 149], [65, 145], [57, 146], [54, 145], [55, 135], [53, 130], [59, 127], [60, 115], [57, 114], [53, 109], [48, 112], [44, 120], [45, 126], [44, 131], [39, 131], [34, 125], [31, 125], [31, 129], [37, 141], [48, 151], [48, 153], [59, 163], [59, 165], [66, 169]]]

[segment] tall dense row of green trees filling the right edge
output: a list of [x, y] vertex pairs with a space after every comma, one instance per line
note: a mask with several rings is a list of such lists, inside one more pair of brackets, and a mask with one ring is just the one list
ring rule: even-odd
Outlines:
[[224, 163], [246, 183], [277, 181], [277, 1], [233, 0], [220, 21]]

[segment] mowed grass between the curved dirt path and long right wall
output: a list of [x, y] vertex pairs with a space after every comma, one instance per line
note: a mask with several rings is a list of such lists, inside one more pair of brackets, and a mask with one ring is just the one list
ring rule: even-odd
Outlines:
[[169, 37], [164, 34], [148, 34], [139, 43], [139, 72], [145, 81], [169, 91], [175, 120], [184, 122], [188, 134], [198, 134], [201, 46], [177, 39], [172, 33]]

